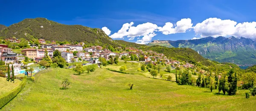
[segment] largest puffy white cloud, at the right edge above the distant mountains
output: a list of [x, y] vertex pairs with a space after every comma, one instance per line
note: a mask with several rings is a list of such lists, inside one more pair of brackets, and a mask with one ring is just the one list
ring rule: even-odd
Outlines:
[[196, 34], [201, 37], [235, 36], [235, 37], [256, 37], [256, 22], [237, 23], [233, 20], [221, 20], [208, 18], [202, 23], [196, 24], [193, 28]]

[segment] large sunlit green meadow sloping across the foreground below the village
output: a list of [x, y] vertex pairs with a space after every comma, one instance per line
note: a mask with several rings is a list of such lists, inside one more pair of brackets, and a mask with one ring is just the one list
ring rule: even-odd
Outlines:
[[[61, 80], [72, 84], [61, 90]], [[134, 83], [129, 90], [127, 83]], [[121, 74], [96, 68], [76, 75], [72, 69], [51, 68], [35, 76], [2, 110], [12, 111], [172, 111], [172, 110], [249, 110], [256, 108], [256, 97], [218, 95], [217, 90], [158, 80], [140, 74]]]

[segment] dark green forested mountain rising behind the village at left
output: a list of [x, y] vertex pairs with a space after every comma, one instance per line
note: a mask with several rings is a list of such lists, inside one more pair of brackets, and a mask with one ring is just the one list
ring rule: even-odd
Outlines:
[[64, 25], [46, 18], [25, 19], [0, 31], [0, 37], [84, 42], [100, 46], [120, 46], [100, 28]]

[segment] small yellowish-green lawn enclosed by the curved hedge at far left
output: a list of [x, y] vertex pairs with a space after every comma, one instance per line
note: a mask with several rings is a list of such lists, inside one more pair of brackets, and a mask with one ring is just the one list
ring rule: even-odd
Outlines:
[[11, 91], [18, 85], [20, 85], [21, 81], [15, 79], [14, 83], [7, 81], [5, 77], [0, 77], [0, 95], [5, 94], [6, 92]]

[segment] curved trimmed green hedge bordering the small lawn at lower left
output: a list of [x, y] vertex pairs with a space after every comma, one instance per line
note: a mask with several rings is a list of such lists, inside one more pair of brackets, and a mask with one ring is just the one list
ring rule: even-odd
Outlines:
[[6, 105], [10, 100], [12, 100], [16, 95], [25, 87], [26, 85], [26, 77], [23, 78], [20, 85], [6, 94], [0, 96], [0, 108]]

